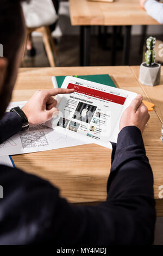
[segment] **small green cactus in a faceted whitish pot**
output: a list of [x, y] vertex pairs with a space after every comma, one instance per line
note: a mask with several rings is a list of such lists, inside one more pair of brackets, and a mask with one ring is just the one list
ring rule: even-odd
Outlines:
[[139, 81], [146, 86], [156, 86], [160, 83], [161, 65], [155, 63], [155, 38], [150, 36], [147, 39], [146, 62], [140, 66]]

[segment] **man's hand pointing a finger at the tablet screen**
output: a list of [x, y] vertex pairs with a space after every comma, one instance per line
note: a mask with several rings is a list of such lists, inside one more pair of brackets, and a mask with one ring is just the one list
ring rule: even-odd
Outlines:
[[58, 108], [56, 107], [57, 100], [53, 99], [53, 96], [73, 92], [74, 89], [61, 88], [39, 90], [34, 93], [22, 108], [22, 111], [26, 114], [30, 125], [42, 124], [59, 113]]

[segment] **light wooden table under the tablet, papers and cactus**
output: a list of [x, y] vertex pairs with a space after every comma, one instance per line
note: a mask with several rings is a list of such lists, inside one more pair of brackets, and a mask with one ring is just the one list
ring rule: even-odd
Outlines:
[[[35, 90], [52, 88], [53, 75], [109, 74], [116, 86], [142, 94], [155, 103], [155, 111], [143, 133], [147, 156], [154, 174], [154, 196], [157, 215], [163, 216], [163, 200], [159, 186], [163, 185], [163, 144], [160, 141], [163, 120], [163, 70], [161, 85], [151, 88], [137, 80], [137, 66], [107, 66], [84, 68], [22, 68], [18, 74], [12, 101], [28, 100]], [[72, 203], [103, 202], [110, 172], [111, 150], [96, 144], [80, 145], [32, 154], [12, 156], [16, 167], [39, 175], [60, 188], [62, 197]]]

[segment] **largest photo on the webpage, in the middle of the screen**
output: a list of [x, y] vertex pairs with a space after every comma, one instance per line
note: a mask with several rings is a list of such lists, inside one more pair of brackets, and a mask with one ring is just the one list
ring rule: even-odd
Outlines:
[[74, 112], [72, 118], [83, 121], [85, 123], [90, 123], [93, 114], [96, 111], [96, 108], [96, 106], [89, 105], [79, 101], [76, 111]]

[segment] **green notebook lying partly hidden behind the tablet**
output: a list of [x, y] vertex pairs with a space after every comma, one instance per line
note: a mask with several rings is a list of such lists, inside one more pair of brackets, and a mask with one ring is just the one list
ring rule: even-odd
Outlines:
[[[60, 88], [62, 83], [64, 82], [66, 76], [55, 76], [58, 87]], [[88, 76], [76, 76], [78, 78], [82, 78], [84, 80], [88, 80], [91, 82], [96, 82], [96, 83], [102, 83], [105, 84], [105, 86], [112, 86], [116, 87], [114, 82], [112, 81], [111, 77], [107, 74], [105, 75], [88, 75]]]

